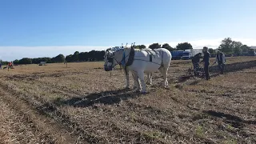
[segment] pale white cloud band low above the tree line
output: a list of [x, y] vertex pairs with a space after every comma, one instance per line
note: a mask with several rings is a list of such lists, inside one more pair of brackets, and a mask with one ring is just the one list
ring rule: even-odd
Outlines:
[[[180, 40], [176, 42], [162, 42], [161, 44], [169, 43], [170, 46], [175, 47], [180, 42], [190, 42], [194, 48], [202, 48], [203, 46], [217, 48], [220, 45], [222, 39], [223, 38], [196, 39], [190, 41]], [[253, 38], [232, 39], [234, 41], [242, 42], [247, 46], [256, 46], [256, 39]], [[145, 45], [150, 46], [150, 44]], [[21, 58], [55, 57], [58, 54], [74, 54], [74, 51], [86, 52], [90, 50], [106, 50], [109, 47], [110, 46], [0, 46], [0, 58], [2, 60], [11, 61]]]

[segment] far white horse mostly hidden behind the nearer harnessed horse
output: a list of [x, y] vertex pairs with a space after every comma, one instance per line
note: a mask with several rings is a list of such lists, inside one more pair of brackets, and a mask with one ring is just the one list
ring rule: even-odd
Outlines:
[[[138, 51], [138, 49], [135, 49], [135, 50]], [[114, 51], [115, 50], [112, 50], [111, 48], [107, 49], [105, 51], [105, 55], [104, 55], [104, 59], [105, 59], [104, 68], [105, 68], [106, 71], [110, 71], [114, 67], [113, 66], [112, 68], [107, 69], [108, 62], [111, 63], [114, 60], [114, 58], [113, 58]], [[122, 65], [120, 65], [120, 66], [122, 66]], [[122, 69], [123, 69], [123, 72], [124, 72], [124, 74], [126, 76], [126, 89], [129, 89], [129, 87], [130, 87], [130, 78], [129, 78], [130, 77], [130, 75], [129, 75], [130, 70], [129, 70], [129, 67], [125, 68], [125, 66], [122, 66]], [[132, 76], [134, 78], [134, 87], [133, 88], [134, 89], [138, 89], [138, 75], [136, 73], [134, 73], [133, 71], [131, 71], [131, 73], [132, 73]], [[152, 85], [152, 73], [147, 73], [147, 82], [146, 83], [148, 85]]]

